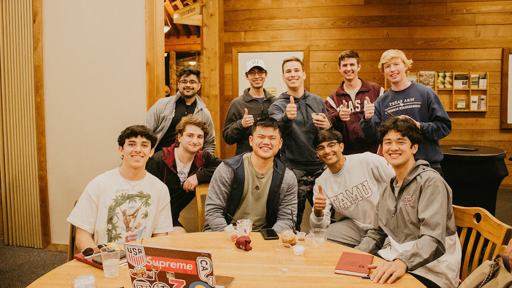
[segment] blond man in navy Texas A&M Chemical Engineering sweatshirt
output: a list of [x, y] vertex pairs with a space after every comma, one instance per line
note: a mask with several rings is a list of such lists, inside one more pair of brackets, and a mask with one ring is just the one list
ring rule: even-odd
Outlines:
[[374, 103], [365, 105], [365, 116], [359, 122], [368, 139], [374, 139], [377, 127], [392, 116], [411, 118], [421, 130], [423, 141], [414, 155], [416, 160], [426, 160], [430, 167], [442, 176], [440, 161], [443, 152], [442, 139], [452, 131], [452, 121], [444, 110], [439, 96], [429, 87], [407, 80], [407, 70], [413, 61], [400, 50], [388, 50], [382, 54], [379, 69], [391, 83], [391, 89]]

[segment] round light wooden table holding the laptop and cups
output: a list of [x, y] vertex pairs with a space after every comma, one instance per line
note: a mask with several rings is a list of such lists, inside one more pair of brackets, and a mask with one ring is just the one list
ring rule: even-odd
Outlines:
[[[224, 232], [202, 232], [171, 235], [144, 239], [143, 244], [167, 246], [178, 249], [204, 250], [212, 253], [214, 273], [235, 277], [232, 287], [423, 287], [410, 274], [404, 275], [393, 284], [382, 286], [369, 279], [334, 274], [334, 266], [342, 252], [362, 253], [330, 242], [312, 247], [306, 246], [303, 256], [292, 255], [287, 275], [278, 275], [273, 263], [272, 244], [281, 240], [264, 240], [260, 233], [251, 233], [252, 250], [243, 251], [229, 241]], [[140, 241], [137, 241], [140, 242]], [[374, 263], [384, 260], [375, 257]], [[96, 277], [98, 287], [132, 287], [127, 266], [119, 269], [119, 276], [106, 278], [103, 271], [77, 260], [70, 261], [40, 277], [29, 287], [70, 287], [73, 279], [80, 274], [91, 273]]]

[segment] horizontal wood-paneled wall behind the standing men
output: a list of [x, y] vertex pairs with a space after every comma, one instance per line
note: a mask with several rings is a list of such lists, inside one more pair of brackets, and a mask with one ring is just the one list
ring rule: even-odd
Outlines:
[[[310, 92], [323, 98], [342, 81], [340, 52], [357, 51], [359, 76], [383, 86], [377, 69], [380, 55], [400, 49], [414, 60], [411, 71], [489, 72], [488, 111], [450, 112], [453, 130], [441, 144], [505, 149], [512, 172], [512, 131], [500, 130], [499, 124], [501, 48], [512, 46], [512, 1], [225, 0], [223, 36], [221, 125], [230, 101], [238, 96], [231, 95], [233, 48], [309, 46]], [[234, 148], [223, 142], [221, 156], [232, 156]], [[512, 176], [504, 183], [512, 184]]]

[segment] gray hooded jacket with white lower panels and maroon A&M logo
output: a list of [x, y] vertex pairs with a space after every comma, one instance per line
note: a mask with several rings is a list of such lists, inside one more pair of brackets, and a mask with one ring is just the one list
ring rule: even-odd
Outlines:
[[[394, 193], [396, 176], [380, 193], [372, 229], [355, 247], [392, 261], [441, 287], [458, 283], [461, 249], [452, 208], [452, 190], [424, 160], [416, 161]], [[381, 249], [386, 237], [391, 245]]]

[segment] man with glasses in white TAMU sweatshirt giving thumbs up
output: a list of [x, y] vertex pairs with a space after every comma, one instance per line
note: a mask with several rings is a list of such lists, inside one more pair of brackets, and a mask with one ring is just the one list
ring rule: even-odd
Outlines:
[[[330, 242], [354, 247], [372, 228], [379, 194], [395, 173], [376, 154], [343, 155], [342, 140], [335, 130], [320, 131], [313, 138], [316, 155], [328, 169], [315, 181], [309, 225], [326, 229]], [[342, 216], [332, 224], [331, 208]]]

